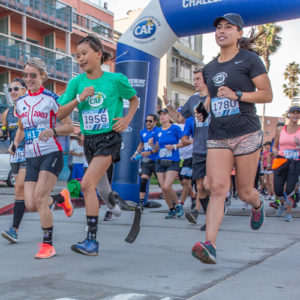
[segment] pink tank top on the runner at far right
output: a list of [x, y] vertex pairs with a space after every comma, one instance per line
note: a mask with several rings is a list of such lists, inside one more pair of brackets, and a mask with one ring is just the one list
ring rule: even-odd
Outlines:
[[280, 132], [279, 137], [279, 152], [280, 156], [287, 159], [299, 159], [300, 149], [298, 148], [295, 138], [300, 141], [300, 127], [295, 133], [288, 133], [286, 126], [284, 126]]

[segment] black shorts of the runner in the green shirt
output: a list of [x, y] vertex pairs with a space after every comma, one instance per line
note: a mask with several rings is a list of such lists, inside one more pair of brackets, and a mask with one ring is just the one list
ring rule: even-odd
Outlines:
[[84, 136], [84, 154], [88, 164], [96, 156], [112, 156], [112, 161], [120, 160], [122, 136], [120, 133], [110, 131], [107, 133]]

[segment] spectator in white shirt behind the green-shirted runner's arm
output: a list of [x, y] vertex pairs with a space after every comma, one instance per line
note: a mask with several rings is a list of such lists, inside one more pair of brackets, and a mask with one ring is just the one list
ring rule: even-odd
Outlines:
[[73, 156], [71, 179], [82, 178], [85, 156], [83, 150], [83, 135], [81, 132], [78, 133], [75, 140], [71, 141], [69, 154]]

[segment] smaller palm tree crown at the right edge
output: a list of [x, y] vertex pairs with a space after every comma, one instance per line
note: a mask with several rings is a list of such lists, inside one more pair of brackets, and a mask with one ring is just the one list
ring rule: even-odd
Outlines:
[[289, 99], [291, 99], [291, 106], [293, 105], [293, 98], [297, 97], [300, 92], [298, 74], [300, 74], [300, 67], [295, 61], [289, 63], [285, 68], [285, 72], [283, 73], [284, 79], [288, 81], [287, 84], [283, 84], [282, 86], [283, 93]]

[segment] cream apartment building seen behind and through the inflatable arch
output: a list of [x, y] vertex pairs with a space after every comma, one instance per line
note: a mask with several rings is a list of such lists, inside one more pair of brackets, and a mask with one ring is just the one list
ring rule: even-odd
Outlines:
[[[127, 17], [115, 20], [115, 30], [124, 33], [141, 12], [142, 9], [128, 11]], [[158, 97], [162, 99], [167, 87], [172, 104], [182, 106], [195, 93], [193, 72], [200, 66], [203, 66], [202, 35], [179, 38], [160, 60]]]

